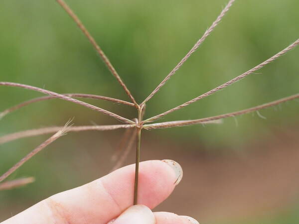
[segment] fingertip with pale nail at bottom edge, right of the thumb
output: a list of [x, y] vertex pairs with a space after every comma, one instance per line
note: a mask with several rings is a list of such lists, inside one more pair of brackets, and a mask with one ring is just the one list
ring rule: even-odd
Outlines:
[[156, 224], [199, 224], [188, 216], [178, 216], [174, 213], [156, 212], [153, 213]]

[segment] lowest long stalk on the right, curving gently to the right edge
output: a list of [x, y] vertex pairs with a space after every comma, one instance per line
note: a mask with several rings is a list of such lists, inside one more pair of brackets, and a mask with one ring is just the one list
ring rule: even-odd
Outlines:
[[258, 111], [261, 109], [273, 107], [275, 105], [282, 104], [287, 101], [295, 100], [299, 98], [299, 94], [292, 95], [290, 97], [286, 97], [277, 101], [273, 101], [267, 104], [263, 104], [257, 107], [245, 109], [242, 111], [237, 111], [237, 112], [231, 112], [231, 113], [225, 113], [217, 116], [211, 116], [211, 117], [206, 117], [206, 118], [201, 118], [201, 119], [196, 119], [196, 120], [177, 120], [177, 121], [169, 121], [169, 122], [162, 122], [162, 123], [153, 123], [153, 124], [145, 124], [144, 128], [145, 129], [157, 129], [157, 128], [167, 128], [167, 127], [178, 127], [178, 126], [186, 126], [186, 125], [191, 125], [191, 124], [198, 124], [198, 123], [204, 123], [212, 120], [218, 120], [222, 119], [225, 117], [231, 117], [231, 116], [237, 116], [245, 113], [250, 113], [254, 111]]

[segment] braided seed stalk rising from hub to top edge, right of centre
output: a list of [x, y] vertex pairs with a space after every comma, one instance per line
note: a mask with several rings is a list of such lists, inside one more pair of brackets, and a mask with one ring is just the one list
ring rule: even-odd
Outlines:
[[166, 82], [171, 78], [171, 76], [174, 75], [174, 73], [187, 61], [187, 59], [196, 51], [196, 49], [199, 47], [199, 45], [211, 34], [211, 32], [214, 30], [214, 28], [218, 25], [218, 23], [221, 21], [225, 13], [229, 10], [229, 8], [232, 6], [235, 0], [230, 0], [228, 4], [224, 7], [224, 9], [221, 11], [220, 15], [217, 17], [217, 19], [212, 23], [212, 25], [204, 32], [203, 36], [196, 42], [196, 44], [191, 48], [191, 50], [186, 54], [185, 57], [174, 67], [174, 69], [164, 78], [164, 80], [152, 91], [151, 94], [147, 97], [147, 99], [144, 100], [144, 102], [141, 105], [144, 105], [149, 101], [150, 98], [155, 95], [162, 86], [166, 84]]

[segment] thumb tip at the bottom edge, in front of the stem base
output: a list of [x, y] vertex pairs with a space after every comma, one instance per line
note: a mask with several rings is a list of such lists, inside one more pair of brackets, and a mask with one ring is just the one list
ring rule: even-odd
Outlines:
[[109, 224], [155, 224], [155, 218], [148, 207], [135, 205], [127, 209]]

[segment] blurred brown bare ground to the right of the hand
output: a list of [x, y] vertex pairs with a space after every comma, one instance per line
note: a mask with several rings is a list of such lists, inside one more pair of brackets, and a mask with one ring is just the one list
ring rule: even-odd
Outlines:
[[276, 131], [276, 136], [252, 142], [242, 152], [222, 149], [222, 154], [189, 151], [193, 142], [163, 142], [159, 144], [163, 150], [156, 151], [157, 141], [148, 142], [146, 157], [156, 158], [159, 153], [159, 159], [174, 159], [184, 171], [174, 194], [157, 210], [178, 211], [202, 223], [214, 223], [263, 216], [291, 206], [299, 199], [299, 129]]

